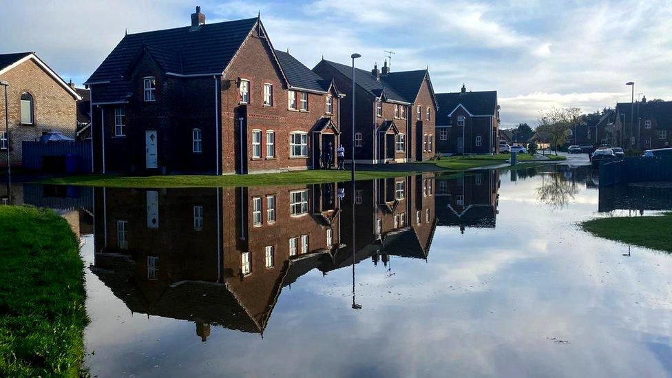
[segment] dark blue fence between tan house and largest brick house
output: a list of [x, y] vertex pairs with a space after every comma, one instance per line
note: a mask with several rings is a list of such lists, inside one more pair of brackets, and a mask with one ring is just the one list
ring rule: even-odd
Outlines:
[[89, 173], [91, 169], [91, 140], [83, 142], [23, 142], [23, 167], [36, 171], [59, 173]]

